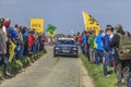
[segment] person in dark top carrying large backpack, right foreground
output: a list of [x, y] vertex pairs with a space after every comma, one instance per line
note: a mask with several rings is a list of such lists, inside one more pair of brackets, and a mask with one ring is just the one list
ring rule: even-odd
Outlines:
[[[118, 87], [121, 87], [122, 84], [127, 84], [127, 76], [128, 76], [128, 72], [129, 71], [124, 71], [127, 69], [130, 70], [130, 64], [129, 61], [122, 61], [120, 60], [118, 57], [118, 51], [117, 49], [119, 49], [119, 45], [120, 45], [120, 36], [124, 36], [124, 32], [122, 29], [122, 25], [119, 24], [116, 26], [116, 32], [117, 34], [114, 35], [111, 42], [110, 42], [110, 47], [115, 48], [115, 61], [116, 61], [116, 73], [117, 73], [117, 85]], [[122, 82], [123, 80], [123, 82]]]

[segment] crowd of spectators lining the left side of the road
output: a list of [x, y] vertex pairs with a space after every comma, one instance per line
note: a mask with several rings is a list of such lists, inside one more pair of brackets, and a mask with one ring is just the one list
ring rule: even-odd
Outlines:
[[4, 76], [11, 77], [9, 65], [25, 55], [44, 50], [46, 37], [35, 28], [15, 24], [10, 18], [0, 18], [0, 66], [4, 65]]

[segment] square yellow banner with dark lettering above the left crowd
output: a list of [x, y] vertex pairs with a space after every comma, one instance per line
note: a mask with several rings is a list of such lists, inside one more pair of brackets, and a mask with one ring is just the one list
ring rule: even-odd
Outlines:
[[37, 33], [44, 33], [44, 20], [31, 18], [31, 29], [35, 29]]

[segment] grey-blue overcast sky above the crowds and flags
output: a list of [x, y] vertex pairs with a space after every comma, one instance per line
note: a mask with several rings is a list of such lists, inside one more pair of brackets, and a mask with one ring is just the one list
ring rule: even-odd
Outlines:
[[31, 17], [45, 20], [58, 27], [58, 33], [82, 32], [82, 11], [88, 12], [105, 28], [122, 24], [131, 30], [131, 0], [0, 0], [0, 17], [10, 17], [12, 25], [29, 26]]

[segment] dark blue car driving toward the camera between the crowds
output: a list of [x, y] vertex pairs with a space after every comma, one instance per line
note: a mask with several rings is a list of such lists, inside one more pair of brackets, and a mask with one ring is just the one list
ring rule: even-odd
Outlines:
[[79, 58], [79, 47], [73, 38], [59, 38], [53, 47], [53, 57], [71, 55]]

